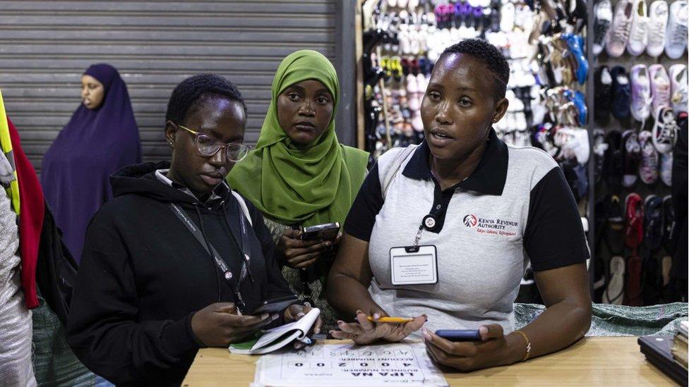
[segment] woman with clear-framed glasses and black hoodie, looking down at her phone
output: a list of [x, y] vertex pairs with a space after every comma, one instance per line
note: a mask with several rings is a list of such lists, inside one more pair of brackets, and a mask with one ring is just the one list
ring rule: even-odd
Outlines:
[[251, 315], [292, 291], [260, 212], [223, 180], [248, 152], [236, 87], [218, 75], [188, 78], [166, 119], [172, 160], [113, 176], [114, 199], [87, 231], [68, 317], [76, 355], [118, 385], [179, 384], [198, 348], [243, 341], [310, 309]]

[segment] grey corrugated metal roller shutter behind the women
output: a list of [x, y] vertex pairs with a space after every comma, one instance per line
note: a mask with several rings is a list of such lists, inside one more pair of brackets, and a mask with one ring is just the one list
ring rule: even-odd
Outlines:
[[0, 1], [0, 90], [37, 170], [80, 103], [91, 63], [118, 68], [145, 160], [167, 159], [167, 99], [189, 75], [220, 73], [248, 105], [256, 142], [280, 60], [316, 49], [335, 61], [335, 0]]

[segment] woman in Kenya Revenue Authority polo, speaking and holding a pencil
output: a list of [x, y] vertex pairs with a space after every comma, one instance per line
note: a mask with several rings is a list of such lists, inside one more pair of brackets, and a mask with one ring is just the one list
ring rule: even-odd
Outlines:
[[[344, 223], [327, 294], [356, 322], [338, 321], [332, 336], [396, 341], [425, 324], [431, 357], [462, 370], [512, 364], [584, 336], [589, 253], [574, 197], [551, 156], [508, 147], [492, 129], [508, 108], [509, 73], [498, 49], [477, 39], [438, 59], [421, 105], [426, 141], [383, 154]], [[514, 331], [529, 262], [546, 310]], [[452, 343], [436, 329], [478, 329], [481, 340]]]

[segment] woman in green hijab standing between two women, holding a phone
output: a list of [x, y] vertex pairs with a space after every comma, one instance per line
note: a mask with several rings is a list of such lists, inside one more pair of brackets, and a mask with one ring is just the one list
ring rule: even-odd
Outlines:
[[272, 80], [272, 98], [256, 149], [227, 177], [263, 213], [278, 249], [283, 274], [296, 293], [314, 302], [325, 326], [335, 314], [325, 302], [339, 237], [300, 240], [297, 226], [344, 223], [366, 175], [369, 154], [340, 145], [335, 111], [340, 82], [332, 63], [316, 51], [289, 54]]

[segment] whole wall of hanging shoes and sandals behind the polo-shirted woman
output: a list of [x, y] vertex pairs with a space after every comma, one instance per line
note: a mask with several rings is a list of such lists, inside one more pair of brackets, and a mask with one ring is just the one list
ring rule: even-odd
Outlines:
[[[673, 145], [678, 123], [685, 122], [678, 117], [685, 120], [688, 111], [687, 0], [366, 4], [372, 8], [363, 23], [371, 162], [390, 147], [424, 140], [419, 108], [443, 49], [486, 39], [503, 51], [511, 70], [508, 112], [493, 128], [509, 145], [544, 149], [563, 168], [582, 222], [590, 226], [594, 301], [604, 293], [608, 302], [628, 305], [674, 300], [673, 292], [644, 287], [670, 286], [649, 276], [667, 266], [661, 261], [673, 248], [657, 242], [667, 233], [656, 225], [673, 222], [665, 219], [665, 207], [658, 210], [657, 198], [671, 203]], [[625, 216], [628, 197], [632, 225]], [[646, 204], [652, 204], [648, 214]], [[656, 219], [652, 229], [645, 228], [645, 216]]]

